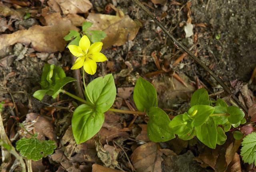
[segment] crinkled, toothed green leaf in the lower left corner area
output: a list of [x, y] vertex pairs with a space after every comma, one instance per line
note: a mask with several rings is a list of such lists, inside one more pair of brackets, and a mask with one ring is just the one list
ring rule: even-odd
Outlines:
[[52, 154], [56, 146], [51, 140], [40, 141], [36, 137], [29, 139], [23, 137], [16, 142], [16, 149], [28, 159], [40, 160], [48, 154]]

